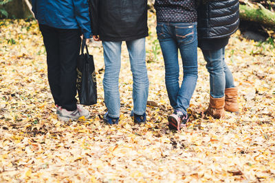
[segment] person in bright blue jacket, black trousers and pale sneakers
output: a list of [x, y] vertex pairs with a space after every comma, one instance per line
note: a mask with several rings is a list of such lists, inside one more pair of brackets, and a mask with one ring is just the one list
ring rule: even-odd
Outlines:
[[58, 119], [89, 117], [76, 105], [76, 64], [81, 38], [91, 38], [87, 0], [32, 0], [47, 51], [47, 72]]

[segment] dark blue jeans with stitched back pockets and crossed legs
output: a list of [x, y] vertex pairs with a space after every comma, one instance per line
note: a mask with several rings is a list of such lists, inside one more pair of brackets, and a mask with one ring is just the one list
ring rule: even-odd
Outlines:
[[[164, 57], [170, 105], [186, 114], [197, 84], [197, 23], [157, 23], [157, 38]], [[184, 67], [180, 87], [178, 50]]]

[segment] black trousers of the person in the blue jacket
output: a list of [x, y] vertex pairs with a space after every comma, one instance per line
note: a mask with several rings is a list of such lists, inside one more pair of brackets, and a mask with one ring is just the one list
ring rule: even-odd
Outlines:
[[39, 25], [47, 51], [47, 74], [54, 102], [76, 110], [76, 64], [80, 51], [80, 29], [57, 29]]

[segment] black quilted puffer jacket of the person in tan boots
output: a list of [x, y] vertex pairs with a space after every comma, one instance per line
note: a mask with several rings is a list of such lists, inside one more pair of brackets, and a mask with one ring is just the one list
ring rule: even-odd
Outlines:
[[225, 38], [239, 27], [239, 0], [199, 0], [198, 38]]

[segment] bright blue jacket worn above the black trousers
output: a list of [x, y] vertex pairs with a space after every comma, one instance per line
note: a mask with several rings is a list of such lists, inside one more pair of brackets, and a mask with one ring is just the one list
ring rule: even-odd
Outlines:
[[81, 29], [91, 38], [89, 4], [87, 0], [32, 0], [32, 11], [39, 24], [58, 29]]

